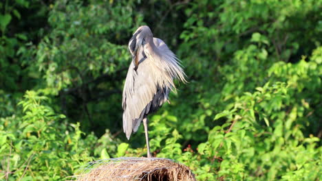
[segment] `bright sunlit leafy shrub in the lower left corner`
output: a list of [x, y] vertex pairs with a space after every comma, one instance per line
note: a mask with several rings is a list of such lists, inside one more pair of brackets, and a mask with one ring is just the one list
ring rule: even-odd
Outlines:
[[46, 101], [48, 97], [27, 91], [19, 103], [23, 114], [1, 118], [1, 170], [12, 171], [9, 180], [58, 180], [92, 160], [91, 143], [97, 138], [81, 138], [79, 123], [67, 123]]

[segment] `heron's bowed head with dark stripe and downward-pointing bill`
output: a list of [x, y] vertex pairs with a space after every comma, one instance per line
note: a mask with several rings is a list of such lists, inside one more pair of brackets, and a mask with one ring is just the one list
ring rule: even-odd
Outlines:
[[131, 52], [132, 59], [134, 60], [136, 67], [138, 67], [138, 49], [143, 47], [147, 41], [152, 40], [153, 34], [148, 26], [140, 26], [134, 32], [132, 38], [129, 40], [129, 51]]

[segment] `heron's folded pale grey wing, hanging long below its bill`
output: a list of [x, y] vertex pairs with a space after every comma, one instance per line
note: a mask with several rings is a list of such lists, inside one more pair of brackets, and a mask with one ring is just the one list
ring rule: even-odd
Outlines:
[[151, 67], [153, 66], [151, 62], [144, 60], [142, 52], [142, 50], [139, 52], [138, 69], [134, 70], [135, 65], [131, 62], [123, 88], [123, 130], [127, 138], [131, 136], [132, 131], [138, 130], [144, 114], [149, 112], [151, 101], [158, 89], [153, 74], [156, 70]]

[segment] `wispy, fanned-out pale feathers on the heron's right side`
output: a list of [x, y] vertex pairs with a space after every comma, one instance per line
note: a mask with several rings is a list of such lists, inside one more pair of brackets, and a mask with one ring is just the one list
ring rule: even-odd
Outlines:
[[[155, 40], [159, 44], [155, 46], [153, 41], [149, 43], [147, 48], [144, 49], [144, 53], [147, 57], [151, 59], [156, 67], [161, 69], [160, 71], [155, 71], [155, 79], [160, 85], [168, 86], [171, 90], [175, 89], [175, 84], [173, 83], [173, 78], [186, 83], [186, 74], [182, 69], [180, 60], [175, 56], [175, 54], [167, 47], [167, 45], [160, 39]], [[158, 46], [158, 47], [157, 47]]]

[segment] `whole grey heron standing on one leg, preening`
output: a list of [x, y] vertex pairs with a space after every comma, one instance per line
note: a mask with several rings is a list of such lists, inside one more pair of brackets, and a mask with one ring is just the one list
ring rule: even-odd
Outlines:
[[123, 130], [130, 138], [143, 122], [147, 141], [147, 157], [151, 157], [149, 147], [147, 115], [158, 110], [175, 90], [174, 79], [186, 82], [180, 60], [159, 38], [153, 38], [148, 26], [139, 27], [129, 40], [132, 61], [122, 94]]

